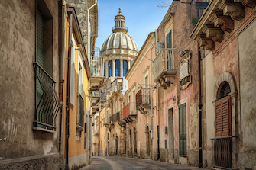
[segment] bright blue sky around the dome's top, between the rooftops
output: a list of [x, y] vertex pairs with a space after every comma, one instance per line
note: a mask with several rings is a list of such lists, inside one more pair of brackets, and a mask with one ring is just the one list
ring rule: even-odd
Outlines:
[[150, 32], [156, 29], [163, 20], [168, 8], [159, 8], [157, 5], [164, 0], [99, 0], [99, 32], [96, 38], [96, 47], [102, 48], [105, 39], [112, 34], [115, 26], [115, 15], [119, 7], [125, 16], [125, 26], [128, 33], [138, 45], [138, 50]]

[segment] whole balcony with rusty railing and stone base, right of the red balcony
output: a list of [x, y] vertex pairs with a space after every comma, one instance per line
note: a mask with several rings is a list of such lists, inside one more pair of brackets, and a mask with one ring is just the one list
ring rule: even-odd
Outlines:
[[141, 114], [151, 111], [151, 88], [141, 88], [136, 93], [136, 109], [141, 111]]

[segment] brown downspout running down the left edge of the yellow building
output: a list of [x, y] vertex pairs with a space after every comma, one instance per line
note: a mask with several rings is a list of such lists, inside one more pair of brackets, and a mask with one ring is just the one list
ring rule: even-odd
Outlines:
[[69, 46], [67, 59], [67, 88], [66, 88], [66, 170], [69, 169], [69, 135], [70, 135], [70, 68], [71, 68], [71, 43], [73, 29], [73, 9], [68, 8], [69, 18]]

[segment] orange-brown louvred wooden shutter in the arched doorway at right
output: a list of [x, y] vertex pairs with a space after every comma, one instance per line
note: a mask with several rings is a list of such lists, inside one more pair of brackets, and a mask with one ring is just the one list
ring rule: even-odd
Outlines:
[[231, 98], [225, 98], [215, 103], [215, 133], [216, 136], [232, 136], [231, 133]]

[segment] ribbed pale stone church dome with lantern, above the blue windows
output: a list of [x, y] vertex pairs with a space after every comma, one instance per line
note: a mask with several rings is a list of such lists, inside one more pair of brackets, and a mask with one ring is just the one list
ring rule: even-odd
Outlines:
[[107, 37], [102, 45], [102, 56], [110, 54], [137, 56], [138, 47], [134, 39], [127, 34], [128, 29], [125, 27], [125, 17], [121, 14], [121, 8], [119, 14], [115, 16], [115, 27], [112, 31], [113, 34]]

